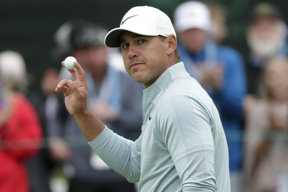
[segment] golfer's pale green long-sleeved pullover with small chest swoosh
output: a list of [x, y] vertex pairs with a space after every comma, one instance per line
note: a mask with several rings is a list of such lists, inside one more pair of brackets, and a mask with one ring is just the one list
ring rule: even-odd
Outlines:
[[107, 127], [89, 145], [140, 192], [230, 191], [228, 148], [217, 109], [182, 62], [143, 90], [142, 134]]

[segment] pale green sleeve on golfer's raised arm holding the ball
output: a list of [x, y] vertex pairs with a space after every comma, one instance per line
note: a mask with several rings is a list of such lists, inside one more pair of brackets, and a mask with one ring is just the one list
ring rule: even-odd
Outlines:
[[101, 134], [88, 144], [107, 165], [129, 182], [140, 180], [141, 135], [133, 142], [105, 126]]

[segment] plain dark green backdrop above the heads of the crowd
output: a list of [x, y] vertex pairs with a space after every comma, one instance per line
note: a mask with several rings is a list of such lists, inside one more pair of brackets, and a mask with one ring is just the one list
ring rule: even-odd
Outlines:
[[[175, 7], [184, 1], [2, 0], [0, 2], [0, 51], [15, 50], [24, 56], [28, 72], [34, 76], [30, 90], [39, 91], [39, 81], [44, 70], [48, 67], [58, 69], [61, 67], [60, 61], [53, 61], [50, 55], [54, 46], [54, 32], [66, 20], [87, 19], [101, 23], [110, 30], [118, 27], [124, 14], [137, 5], [157, 7], [173, 20]], [[223, 3], [228, 12], [229, 35], [224, 43], [244, 53], [247, 14], [251, 6], [259, 1], [218, 0], [218, 2]], [[283, 18], [287, 22], [288, 1], [274, 0], [273, 3], [280, 7]]]

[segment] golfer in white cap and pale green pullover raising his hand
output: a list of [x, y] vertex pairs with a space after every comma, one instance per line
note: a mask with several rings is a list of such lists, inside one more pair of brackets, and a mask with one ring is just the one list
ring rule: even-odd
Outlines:
[[110, 131], [88, 109], [85, 73], [74, 62], [74, 82], [63, 79], [55, 91], [64, 93], [67, 110], [94, 151], [128, 181], [139, 181], [140, 192], [230, 191], [219, 114], [179, 63], [169, 17], [153, 7], [134, 7], [105, 44], [121, 47], [127, 72], [145, 88], [143, 125], [135, 142]]

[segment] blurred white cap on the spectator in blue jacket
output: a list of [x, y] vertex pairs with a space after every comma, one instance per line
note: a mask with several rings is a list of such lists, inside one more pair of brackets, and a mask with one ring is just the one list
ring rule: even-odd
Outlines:
[[198, 1], [187, 1], [180, 4], [174, 13], [174, 25], [178, 32], [187, 29], [211, 29], [211, 16], [209, 8]]

